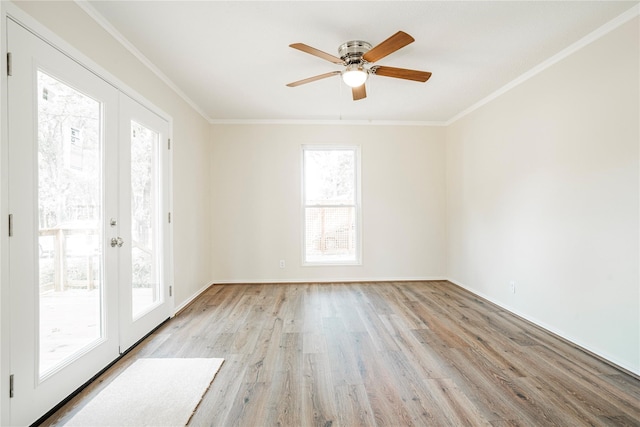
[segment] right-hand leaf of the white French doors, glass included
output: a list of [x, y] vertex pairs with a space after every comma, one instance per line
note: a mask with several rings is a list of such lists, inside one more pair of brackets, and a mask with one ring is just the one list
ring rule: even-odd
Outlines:
[[120, 96], [120, 349], [125, 351], [171, 314], [169, 123]]

